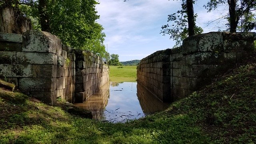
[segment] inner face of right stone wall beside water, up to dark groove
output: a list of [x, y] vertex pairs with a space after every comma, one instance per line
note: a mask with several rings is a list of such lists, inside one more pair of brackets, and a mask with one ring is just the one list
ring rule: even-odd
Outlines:
[[162, 101], [170, 101], [170, 54], [161, 50], [143, 58], [137, 67], [138, 83]]

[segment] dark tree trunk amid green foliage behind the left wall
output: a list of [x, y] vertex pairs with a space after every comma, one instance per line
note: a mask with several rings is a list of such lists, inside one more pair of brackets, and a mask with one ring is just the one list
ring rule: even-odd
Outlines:
[[39, 0], [38, 11], [40, 16], [41, 30], [50, 32], [49, 16], [46, 10], [47, 10], [47, 1]]

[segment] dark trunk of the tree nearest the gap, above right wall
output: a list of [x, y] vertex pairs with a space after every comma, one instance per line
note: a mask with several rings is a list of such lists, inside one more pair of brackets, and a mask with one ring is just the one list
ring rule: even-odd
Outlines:
[[193, 0], [187, 0], [187, 13], [188, 13], [188, 36], [192, 36], [195, 34]]

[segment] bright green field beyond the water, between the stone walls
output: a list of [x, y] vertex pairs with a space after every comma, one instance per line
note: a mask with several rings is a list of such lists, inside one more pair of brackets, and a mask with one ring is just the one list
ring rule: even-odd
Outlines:
[[[120, 68], [122, 67], [122, 68]], [[135, 82], [137, 66], [109, 66], [109, 78], [112, 82]]]

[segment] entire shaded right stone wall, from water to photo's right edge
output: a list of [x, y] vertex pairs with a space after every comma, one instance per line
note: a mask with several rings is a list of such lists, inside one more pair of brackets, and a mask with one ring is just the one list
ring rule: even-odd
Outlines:
[[137, 79], [163, 102], [184, 98], [255, 52], [255, 32], [190, 36], [179, 48], [155, 52], [137, 67]]

